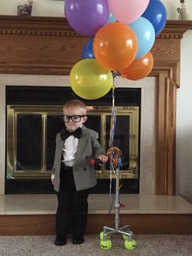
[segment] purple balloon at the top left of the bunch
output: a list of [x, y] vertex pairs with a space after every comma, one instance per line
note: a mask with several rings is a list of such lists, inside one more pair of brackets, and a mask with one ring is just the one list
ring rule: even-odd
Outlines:
[[76, 32], [92, 37], [107, 23], [107, 0], [65, 0], [64, 12]]

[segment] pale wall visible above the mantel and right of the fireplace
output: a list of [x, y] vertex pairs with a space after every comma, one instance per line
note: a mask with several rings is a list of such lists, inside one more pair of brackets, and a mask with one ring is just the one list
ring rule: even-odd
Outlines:
[[[91, 1], [91, 0], [90, 0]], [[0, 15], [16, 15], [17, 5], [24, 0], [1, 0]], [[179, 0], [162, 0], [168, 11], [168, 20], [177, 20]], [[192, 1], [185, 7], [192, 19]], [[33, 0], [32, 15], [63, 16], [62, 0]], [[177, 194], [192, 203], [192, 30], [181, 40], [181, 88], [177, 90]]]

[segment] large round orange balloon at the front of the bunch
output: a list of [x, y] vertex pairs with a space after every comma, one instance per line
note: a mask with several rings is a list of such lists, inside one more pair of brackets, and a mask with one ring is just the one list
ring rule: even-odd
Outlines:
[[119, 71], [137, 54], [137, 38], [126, 24], [114, 22], [98, 30], [93, 43], [94, 56], [104, 67]]

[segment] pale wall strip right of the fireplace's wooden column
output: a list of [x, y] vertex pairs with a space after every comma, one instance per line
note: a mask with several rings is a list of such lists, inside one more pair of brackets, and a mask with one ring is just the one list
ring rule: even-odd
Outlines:
[[177, 90], [177, 193], [192, 203], [192, 31], [181, 40], [181, 88]]

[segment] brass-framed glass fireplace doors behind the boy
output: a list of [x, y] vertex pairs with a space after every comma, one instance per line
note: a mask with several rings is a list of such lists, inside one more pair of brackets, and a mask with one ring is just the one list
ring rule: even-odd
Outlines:
[[[62, 106], [7, 106], [7, 179], [50, 179], [55, 136], [62, 129]], [[138, 107], [116, 107], [114, 146], [123, 152], [121, 179], [138, 178]], [[85, 126], [97, 130], [107, 151], [111, 107], [87, 109]], [[98, 179], [110, 179], [109, 164], [95, 166]]]

